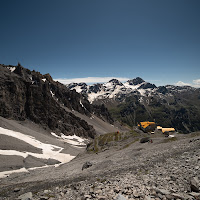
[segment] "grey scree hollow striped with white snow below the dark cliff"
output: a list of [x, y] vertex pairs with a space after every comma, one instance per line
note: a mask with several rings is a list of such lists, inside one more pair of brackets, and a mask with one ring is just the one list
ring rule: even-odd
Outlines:
[[0, 117], [0, 179], [15, 172], [46, 168], [72, 160], [88, 140], [78, 136], [55, 137], [32, 121]]

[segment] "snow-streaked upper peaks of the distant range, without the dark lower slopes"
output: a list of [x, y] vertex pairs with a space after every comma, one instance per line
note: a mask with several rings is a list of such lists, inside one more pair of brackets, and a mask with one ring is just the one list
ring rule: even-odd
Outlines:
[[86, 83], [71, 83], [67, 85], [70, 90], [84, 94], [88, 97], [90, 103], [102, 99], [123, 100], [124, 97], [135, 94], [141, 97], [171, 95], [173, 92], [182, 92], [185, 90], [195, 90], [195, 88], [184, 86], [178, 87], [173, 85], [160, 86], [151, 84], [137, 77], [121, 83], [117, 79], [112, 79], [107, 83], [87, 85]]

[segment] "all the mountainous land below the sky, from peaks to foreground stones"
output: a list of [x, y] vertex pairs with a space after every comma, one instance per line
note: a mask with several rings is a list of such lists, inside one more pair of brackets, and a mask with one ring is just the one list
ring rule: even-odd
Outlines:
[[197, 200], [199, 146], [200, 89], [0, 65], [2, 200]]

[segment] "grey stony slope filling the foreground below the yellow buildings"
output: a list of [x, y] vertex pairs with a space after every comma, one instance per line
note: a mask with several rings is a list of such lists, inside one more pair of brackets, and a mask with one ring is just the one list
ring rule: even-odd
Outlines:
[[[34, 200], [199, 199], [200, 134], [152, 139], [98, 154], [84, 152], [57, 168], [12, 174], [1, 179], [0, 199], [27, 192]], [[92, 166], [82, 170], [86, 161]]]

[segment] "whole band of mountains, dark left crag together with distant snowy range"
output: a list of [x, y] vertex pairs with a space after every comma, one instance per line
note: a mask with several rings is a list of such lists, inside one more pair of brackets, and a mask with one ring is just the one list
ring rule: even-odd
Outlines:
[[0, 72], [0, 116], [30, 120], [57, 134], [94, 138], [141, 121], [155, 121], [180, 133], [200, 130], [198, 88], [157, 87], [140, 77], [125, 83], [112, 79], [63, 85], [20, 64], [2, 64]]

